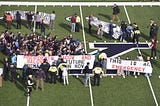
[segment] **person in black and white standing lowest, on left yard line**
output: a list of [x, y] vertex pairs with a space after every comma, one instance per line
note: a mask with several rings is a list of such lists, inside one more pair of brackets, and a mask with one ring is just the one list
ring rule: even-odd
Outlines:
[[26, 93], [26, 96], [30, 96], [31, 92], [32, 92], [32, 87], [33, 87], [33, 77], [32, 75], [29, 75], [28, 76], [28, 79], [27, 79], [27, 93]]

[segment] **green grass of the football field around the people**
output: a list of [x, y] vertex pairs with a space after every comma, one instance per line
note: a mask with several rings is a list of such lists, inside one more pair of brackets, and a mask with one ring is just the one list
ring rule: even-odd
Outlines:
[[[29, 1], [29, 0], [28, 0]], [[107, 1], [107, 0], [104, 0]], [[116, 0], [114, 0], [116, 1]], [[123, 0], [126, 1], [126, 0]], [[134, 0], [132, 0], [134, 1]], [[135, 0], [136, 1], [136, 0]], [[125, 20], [128, 23], [124, 7], [120, 7], [121, 20]], [[142, 32], [140, 41], [145, 42], [149, 41], [149, 29], [147, 26], [150, 23], [150, 18], [153, 18], [158, 25], [160, 25], [159, 6], [154, 7], [126, 7], [129, 18], [131, 22], [136, 22]], [[3, 16], [3, 13], [6, 10], [31, 10], [34, 11], [34, 7], [25, 7], [25, 6], [0, 6], [0, 16]], [[70, 34], [71, 23], [66, 21], [65, 18], [71, 16], [75, 13], [80, 15], [79, 7], [38, 7], [38, 11], [51, 13], [53, 10], [56, 11], [56, 23], [55, 30], [47, 30], [47, 33], [51, 32], [52, 36], [58, 35], [58, 39], [62, 39], [64, 36]], [[114, 40], [109, 41], [105, 35], [103, 40], [97, 39], [96, 37], [96, 27], [93, 27], [92, 35], [88, 34], [88, 24], [85, 21], [90, 13], [93, 13], [94, 16], [99, 17], [101, 20], [109, 22], [112, 16], [111, 7], [83, 7], [82, 6], [82, 15], [84, 19], [84, 29], [85, 37], [87, 41], [87, 52], [90, 52], [88, 48], [88, 42], [93, 41], [107, 41], [114, 42]], [[120, 23], [115, 22], [120, 25]], [[13, 23], [15, 24], [15, 22]], [[2, 20], [0, 20], [0, 32], [5, 30], [5, 25]], [[15, 34], [21, 31], [23, 34], [30, 33], [31, 31], [26, 28], [26, 22], [24, 22], [21, 30], [15, 29], [15, 26], [12, 25], [12, 29]], [[37, 34], [40, 33], [39, 30], [36, 30]], [[83, 42], [82, 31], [79, 33], [73, 33], [74, 38], [79, 38]], [[158, 37], [160, 41], [160, 37]], [[160, 104], [160, 45], [157, 44], [157, 60], [153, 61], [153, 76], [150, 78], [151, 84], [157, 98], [158, 104]], [[150, 50], [141, 50], [144, 58], [150, 55]], [[138, 52], [132, 51], [122, 56], [130, 56], [131, 59], [135, 59]], [[0, 55], [3, 59], [3, 55]], [[1, 64], [2, 66], [2, 64]], [[92, 78], [91, 78], [92, 79]], [[60, 83], [56, 85], [45, 83], [44, 91], [35, 91], [33, 90], [30, 99], [30, 106], [91, 106], [90, 101], [90, 90], [89, 87], [83, 86], [83, 77], [79, 79], [70, 76], [69, 77], [69, 86], [63, 86]], [[26, 97], [24, 93], [26, 91], [26, 86], [19, 79], [17, 84], [11, 83], [10, 81], [3, 81], [3, 87], [0, 88], [0, 106], [25, 106]], [[147, 78], [143, 75], [135, 79], [133, 76], [126, 77], [123, 79], [121, 76], [116, 76], [113, 79], [111, 77], [103, 77], [101, 79], [100, 87], [92, 87], [93, 93], [93, 103], [94, 106], [156, 106], [149, 83]]]

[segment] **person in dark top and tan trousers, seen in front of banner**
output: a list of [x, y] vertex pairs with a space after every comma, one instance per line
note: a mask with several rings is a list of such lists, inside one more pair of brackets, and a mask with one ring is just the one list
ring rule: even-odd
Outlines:
[[41, 84], [41, 90], [44, 91], [44, 79], [46, 78], [45, 72], [43, 69], [36, 71], [36, 91], [38, 90], [39, 83]]

